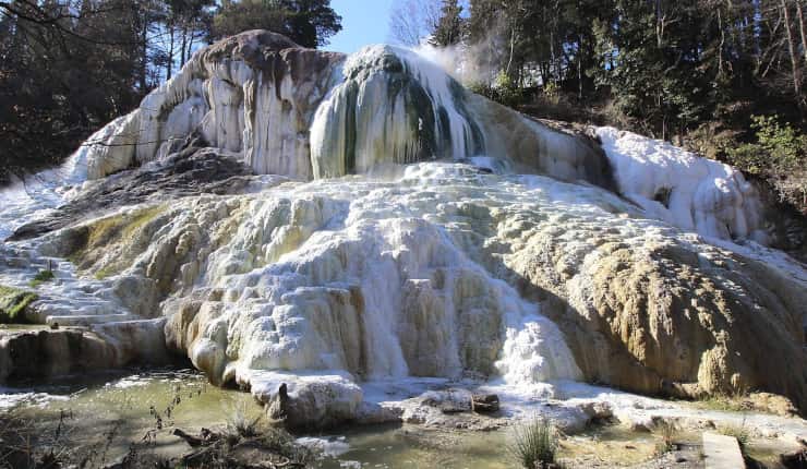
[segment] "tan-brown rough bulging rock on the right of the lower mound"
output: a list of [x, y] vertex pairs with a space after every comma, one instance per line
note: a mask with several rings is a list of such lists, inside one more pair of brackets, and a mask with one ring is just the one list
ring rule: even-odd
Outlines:
[[551, 232], [531, 231], [505, 265], [525, 294], [549, 300], [544, 313], [589, 380], [687, 397], [759, 388], [807, 406], [807, 291], [786, 274], [718, 249], [636, 246], [607, 232], [580, 240], [569, 264]]

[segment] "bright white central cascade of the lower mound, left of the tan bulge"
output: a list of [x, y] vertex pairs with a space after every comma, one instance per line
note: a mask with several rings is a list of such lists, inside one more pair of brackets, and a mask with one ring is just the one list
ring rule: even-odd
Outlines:
[[563, 335], [539, 306], [492, 278], [465, 254], [473, 248], [444, 230], [455, 218], [429, 221], [436, 214], [420, 194], [438, 191], [454, 203], [453, 191], [441, 191], [446, 183], [469, 195], [484, 190], [486, 181], [467, 175], [474, 170], [421, 164], [398, 182], [314, 181], [255, 196], [240, 215], [250, 223], [207, 256], [194, 282], [224, 293], [201, 306], [204, 315], [216, 308], [218, 318], [200, 330], [191, 359], [257, 394], [280, 380], [266, 370], [330, 371], [337, 387], [341, 376], [578, 378]]

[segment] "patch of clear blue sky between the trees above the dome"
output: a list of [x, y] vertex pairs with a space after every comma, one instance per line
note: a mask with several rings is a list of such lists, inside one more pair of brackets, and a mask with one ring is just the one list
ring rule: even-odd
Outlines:
[[325, 50], [356, 52], [368, 44], [389, 40], [389, 11], [395, 0], [332, 0], [330, 7], [341, 15], [341, 27]]

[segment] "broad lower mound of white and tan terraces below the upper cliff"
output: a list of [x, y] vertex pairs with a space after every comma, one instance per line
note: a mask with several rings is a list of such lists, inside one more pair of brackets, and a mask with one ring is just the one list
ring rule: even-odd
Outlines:
[[[137, 231], [143, 215], [116, 215], [43, 249], [156, 285], [169, 347], [265, 401], [288, 383], [296, 425], [349, 420], [352, 383], [408, 375], [760, 388], [804, 408], [804, 272], [640, 215], [591, 187], [421, 164], [384, 183], [185, 197]], [[70, 241], [82, 231], [92, 249]]]

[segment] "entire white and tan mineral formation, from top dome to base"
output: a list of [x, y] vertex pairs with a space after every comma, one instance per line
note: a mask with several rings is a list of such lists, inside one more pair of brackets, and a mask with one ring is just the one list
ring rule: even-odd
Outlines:
[[362, 385], [415, 377], [760, 389], [804, 411], [807, 270], [762, 245], [754, 189], [599, 132], [528, 120], [411, 51], [249, 32], [99, 131], [131, 145], [77, 152], [70, 180], [89, 181], [11, 200], [0, 217], [31, 209], [0, 280], [68, 258], [41, 322], [165, 321], [168, 349], [294, 428], [384, 420]]

